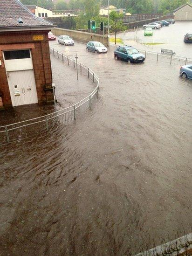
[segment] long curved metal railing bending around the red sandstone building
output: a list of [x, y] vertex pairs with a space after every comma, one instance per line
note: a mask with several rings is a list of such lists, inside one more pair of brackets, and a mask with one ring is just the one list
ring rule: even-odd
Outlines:
[[87, 97], [68, 108], [64, 108], [41, 117], [0, 126], [0, 145], [33, 137], [42, 131], [54, 130], [54, 128], [58, 127], [60, 124], [69, 124], [82, 112], [90, 109], [95, 98], [98, 97], [99, 78], [91, 69], [82, 63], [76, 62], [75, 59], [54, 50], [54, 48], [49, 49], [50, 54], [53, 54], [64, 64], [71, 66], [74, 69], [78, 69], [78, 72], [91, 79], [92, 82], [96, 84], [96, 88]]

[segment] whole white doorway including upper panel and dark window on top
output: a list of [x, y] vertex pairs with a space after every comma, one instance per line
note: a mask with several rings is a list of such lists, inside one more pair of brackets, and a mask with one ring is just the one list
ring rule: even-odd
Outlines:
[[31, 51], [4, 51], [7, 81], [13, 106], [38, 103]]

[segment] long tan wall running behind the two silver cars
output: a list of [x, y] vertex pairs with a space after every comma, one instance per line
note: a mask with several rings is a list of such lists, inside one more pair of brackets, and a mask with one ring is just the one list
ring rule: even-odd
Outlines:
[[52, 33], [54, 35], [69, 35], [77, 42], [83, 42], [87, 43], [89, 41], [98, 41], [102, 42], [105, 46], [109, 45], [109, 38], [107, 35], [98, 35], [98, 34], [92, 34], [92, 37], [90, 36], [90, 33], [88, 32], [82, 32], [78, 30], [70, 30], [70, 29], [64, 29], [64, 28], [54, 28], [52, 29]]

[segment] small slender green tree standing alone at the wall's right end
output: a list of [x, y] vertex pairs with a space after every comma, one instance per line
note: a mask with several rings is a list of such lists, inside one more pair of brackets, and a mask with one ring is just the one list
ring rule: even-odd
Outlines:
[[124, 31], [126, 27], [123, 26], [123, 21], [120, 20], [123, 18], [123, 14], [117, 14], [116, 11], [110, 12], [110, 20], [112, 21], [111, 29], [115, 33], [115, 44], [116, 44], [116, 33], [117, 31]]

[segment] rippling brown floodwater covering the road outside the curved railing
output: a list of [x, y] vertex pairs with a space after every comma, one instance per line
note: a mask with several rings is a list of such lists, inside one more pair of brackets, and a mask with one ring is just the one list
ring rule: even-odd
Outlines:
[[134, 255], [190, 233], [192, 81], [112, 48], [50, 44], [94, 70], [99, 98], [71, 125], [0, 148], [0, 254]]

